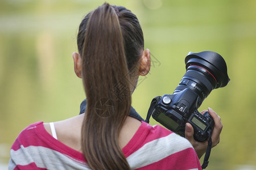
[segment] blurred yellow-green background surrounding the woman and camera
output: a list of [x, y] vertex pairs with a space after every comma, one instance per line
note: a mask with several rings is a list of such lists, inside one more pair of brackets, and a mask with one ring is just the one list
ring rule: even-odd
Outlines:
[[[79, 113], [85, 95], [73, 71], [76, 33], [82, 17], [104, 2], [0, 1], [0, 169], [7, 168], [10, 147], [26, 126]], [[151, 72], [133, 95], [141, 116], [153, 97], [172, 94], [188, 52], [218, 52], [231, 81], [199, 108], [211, 107], [224, 125], [207, 169], [256, 169], [256, 1], [108, 2], [137, 15], [151, 50]]]

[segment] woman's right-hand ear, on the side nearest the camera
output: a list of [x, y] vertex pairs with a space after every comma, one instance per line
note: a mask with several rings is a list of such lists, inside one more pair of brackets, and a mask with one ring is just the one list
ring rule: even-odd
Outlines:
[[139, 66], [139, 75], [147, 75], [150, 71], [151, 60], [150, 60], [150, 50], [146, 49], [142, 53], [141, 65]]

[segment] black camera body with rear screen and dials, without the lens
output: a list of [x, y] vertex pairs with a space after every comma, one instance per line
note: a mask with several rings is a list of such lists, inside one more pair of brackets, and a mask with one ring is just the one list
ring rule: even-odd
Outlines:
[[214, 121], [208, 112], [201, 114], [197, 111], [198, 101], [198, 95], [188, 88], [177, 94], [163, 95], [155, 105], [152, 117], [182, 137], [185, 137], [185, 123], [189, 122], [194, 129], [195, 140], [205, 141]]

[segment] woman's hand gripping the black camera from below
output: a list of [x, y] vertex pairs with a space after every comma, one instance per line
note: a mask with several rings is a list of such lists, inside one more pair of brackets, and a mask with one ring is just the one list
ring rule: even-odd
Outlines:
[[[207, 111], [203, 111], [203, 112], [201, 112], [201, 114], [204, 114], [204, 112], [207, 112]], [[210, 116], [212, 116], [213, 121], [214, 121], [214, 128], [212, 131], [212, 147], [214, 147], [214, 146], [218, 145], [218, 143], [220, 143], [220, 133], [223, 128], [223, 125], [221, 123], [220, 116], [218, 116], [218, 114], [216, 112], [214, 112], [211, 108], [208, 108], [208, 112], [209, 112]], [[185, 138], [187, 138], [188, 141], [192, 144], [192, 146], [194, 147], [194, 149], [196, 151], [198, 158], [200, 159], [201, 156], [203, 156], [207, 150], [208, 141], [198, 142], [194, 139], [193, 135], [194, 135], [194, 129], [193, 129], [192, 125], [189, 123], [186, 123]]]

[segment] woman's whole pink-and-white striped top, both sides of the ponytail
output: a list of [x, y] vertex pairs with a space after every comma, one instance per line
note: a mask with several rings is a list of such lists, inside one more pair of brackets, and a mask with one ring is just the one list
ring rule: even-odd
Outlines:
[[[201, 169], [187, 139], [142, 122], [122, 149], [131, 169]], [[37, 122], [24, 129], [11, 147], [9, 169], [90, 169], [81, 152], [53, 138]]]

